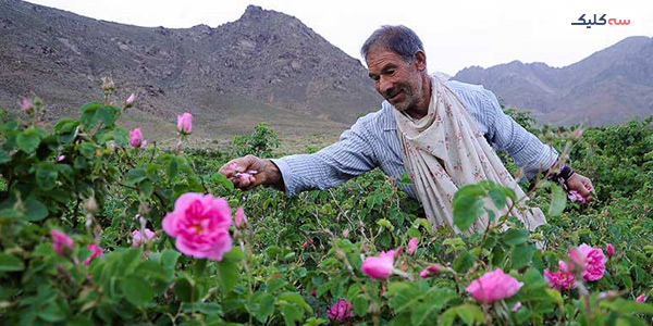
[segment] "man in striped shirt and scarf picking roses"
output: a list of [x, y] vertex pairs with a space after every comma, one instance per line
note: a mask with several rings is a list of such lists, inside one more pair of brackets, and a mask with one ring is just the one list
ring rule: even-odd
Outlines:
[[[518, 198], [525, 196], [489, 143], [506, 150], [529, 178], [556, 164], [557, 152], [504, 114], [491, 91], [429, 76], [427, 54], [411, 29], [383, 26], [365, 42], [361, 54], [386, 100], [380, 111], [359, 118], [338, 142], [315, 154], [278, 160], [249, 155], [220, 172], [242, 189], [266, 185], [293, 196], [337, 186], [377, 166], [396, 178], [407, 171], [412, 185], [405, 190], [422, 203], [431, 223], [454, 227], [452, 198], [464, 185], [490, 179], [513, 188]], [[250, 170], [258, 173], [234, 177]], [[560, 175], [569, 190], [591, 198], [587, 177], [566, 166]], [[539, 209], [510, 214], [530, 229], [545, 223]], [[479, 218], [473, 230], [488, 223], [486, 216]]]

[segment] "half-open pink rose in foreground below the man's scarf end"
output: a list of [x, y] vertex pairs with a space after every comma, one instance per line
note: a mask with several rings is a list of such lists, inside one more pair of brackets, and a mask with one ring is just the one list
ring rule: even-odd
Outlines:
[[513, 297], [522, 286], [523, 283], [517, 281], [513, 276], [504, 274], [501, 268], [496, 268], [472, 281], [467, 287], [467, 291], [478, 301], [492, 303]]

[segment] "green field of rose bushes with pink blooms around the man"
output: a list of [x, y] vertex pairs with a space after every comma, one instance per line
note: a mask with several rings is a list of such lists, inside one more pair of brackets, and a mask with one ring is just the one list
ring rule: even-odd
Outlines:
[[653, 321], [653, 117], [581, 129], [507, 110], [592, 179], [593, 199], [522, 179], [549, 223], [529, 233], [495, 214], [514, 191], [468, 185], [456, 227], [481, 214], [494, 225], [457, 234], [431, 227], [401, 190], [409, 178], [379, 170], [292, 198], [234, 189], [218, 173], [227, 161], [280, 155], [268, 125], [230, 149], [193, 149], [180, 110], [177, 146], [160, 148], [119, 126], [138, 99], [111, 90], [77, 120], [44, 123], [38, 98], [0, 120], [0, 325]]

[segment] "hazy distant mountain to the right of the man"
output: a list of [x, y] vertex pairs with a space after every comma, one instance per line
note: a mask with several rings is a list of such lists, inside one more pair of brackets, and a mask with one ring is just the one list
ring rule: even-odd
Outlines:
[[545, 122], [605, 125], [653, 115], [653, 38], [629, 37], [565, 67], [513, 61], [453, 79], [482, 84], [506, 105]]

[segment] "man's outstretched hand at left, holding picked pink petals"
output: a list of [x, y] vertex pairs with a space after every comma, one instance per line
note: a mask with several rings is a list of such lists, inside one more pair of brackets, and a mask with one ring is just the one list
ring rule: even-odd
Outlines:
[[219, 172], [230, 178], [234, 183], [234, 187], [243, 190], [249, 190], [260, 185], [284, 190], [279, 167], [272, 161], [261, 160], [255, 155], [231, 160], [222, 165]]

